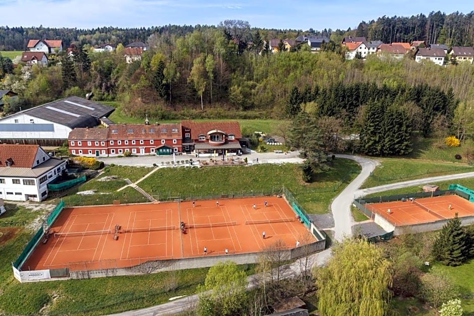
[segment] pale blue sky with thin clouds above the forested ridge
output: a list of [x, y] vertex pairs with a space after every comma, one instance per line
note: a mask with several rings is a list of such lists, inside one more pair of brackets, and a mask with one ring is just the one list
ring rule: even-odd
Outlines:
[[384, 15], [473, 9], [467, 0], [0, 0], [0, 26], [132, 28], [236, 19], [259, 28], [346, 30]]

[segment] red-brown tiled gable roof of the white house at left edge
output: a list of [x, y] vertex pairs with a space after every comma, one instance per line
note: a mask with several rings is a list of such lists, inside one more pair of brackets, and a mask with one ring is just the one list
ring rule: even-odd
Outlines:
[[32, 168], [39, 145], [0, 145], [0, 167], [7, 167], [6, 161], [13, 161], [10, 167]]

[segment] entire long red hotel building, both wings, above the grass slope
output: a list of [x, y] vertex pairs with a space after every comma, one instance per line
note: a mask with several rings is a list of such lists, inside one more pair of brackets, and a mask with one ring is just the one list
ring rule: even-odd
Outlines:
[[110, 124], [106, 129], [74, 129], [69, 152], [76, 156], [235, 154], [242, 152], [237, 121], [167, 124]]

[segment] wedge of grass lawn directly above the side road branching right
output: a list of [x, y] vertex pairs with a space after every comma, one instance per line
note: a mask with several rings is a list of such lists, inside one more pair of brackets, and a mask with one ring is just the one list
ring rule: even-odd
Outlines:
[[381, 164], [362, 185], [363, 188], [412, 179], [474, 171], [461, 163], [442, 163], [401, 158], [380, 158]]

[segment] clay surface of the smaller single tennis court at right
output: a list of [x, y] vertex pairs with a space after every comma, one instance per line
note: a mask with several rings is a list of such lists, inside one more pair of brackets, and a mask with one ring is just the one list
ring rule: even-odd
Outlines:
[[[373, 213], [378, 213], [396, 226], [413, 225], [451, 219], [457, 213], [459, 217], [474, 215], [474, 204], [456, 195], [417, 199], [430, 212], [410, 200], [367, 205]], [[451, 205], [451, 210], [449, 210]], [[390, 209], [390, 214], [388, 214]]]

